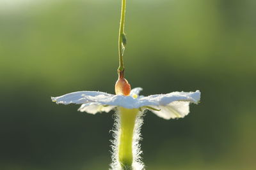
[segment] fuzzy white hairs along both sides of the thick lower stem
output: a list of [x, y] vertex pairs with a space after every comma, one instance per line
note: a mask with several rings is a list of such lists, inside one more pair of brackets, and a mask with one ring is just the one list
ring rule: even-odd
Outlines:
[[[140, 140], [141, 138], [141, 125], [143, 124], [143, 111], [138, 111], [138, 114], [136, 116], [135, 125], [133, 129], [133, 135], [132, 135], [132, 169], [129, 170], [143, 170], [144, 164], [142, 162], [141, 153], [140, 150]], [[110, 170], [128, 170], [126, 168], [123, 168], [119, 162], [118, 159], [118, 146], [120, 144], [120, 113], [118, 110], [115, 111], [115, 114], [113, 115], [114, 118], [114, 126], [113, 126], [113, 138], [111, 139], [111, 159], [112, 162], [110, 164], [111, 168]]]

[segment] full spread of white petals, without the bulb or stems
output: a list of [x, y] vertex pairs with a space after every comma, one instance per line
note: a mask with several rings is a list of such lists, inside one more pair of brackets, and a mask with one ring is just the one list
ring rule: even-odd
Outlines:
[[164, 119], [183, 118], [189, 113], [189, 103], [197, 104], [200, 101], [199, 90], [196, 90], [196, 92], [157, 94], [147, 97], [138, 96], [141, 90], [140, 87], [132, 89], [130, 96], [80, 91], [60, 97], [52, 97], [52, 101], [57, 104], [82, 104], [78, 111], [86, 111], [92, 114], [102, 111], [109, 112], [118, 106], [127, 109], [147, 109]]

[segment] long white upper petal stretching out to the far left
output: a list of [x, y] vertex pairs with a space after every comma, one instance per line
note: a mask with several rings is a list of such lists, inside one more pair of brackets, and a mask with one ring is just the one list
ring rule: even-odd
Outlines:
[[113, 94], [107, 94], [104, 92], [92, 92], [92, 91], [81, 91], [81, 92], [72, 92], [69, 94], [65, 94], [59, 97], [51, 97], [52, 101], [57, 104], [83, 104], [83, 103], [91, 103], [98, 97], [104, 98], [113, 96]]

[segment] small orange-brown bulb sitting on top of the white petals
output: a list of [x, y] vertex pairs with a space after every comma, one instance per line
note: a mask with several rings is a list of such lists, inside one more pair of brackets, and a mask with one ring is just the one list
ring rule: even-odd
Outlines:
[[124, 96], [129, 96], [131, 92], [131, 85], [125, 78], [118, 78], [115, 85], [116, 94], [122, 94]]

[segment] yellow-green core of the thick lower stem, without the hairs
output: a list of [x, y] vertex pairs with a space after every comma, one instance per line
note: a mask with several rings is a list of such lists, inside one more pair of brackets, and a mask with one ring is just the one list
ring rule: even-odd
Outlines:
[[120, 114], [120, 143], [118, 160], [123, 169], [132, 169], [132, 138], [138, 109], [118, 108]]

